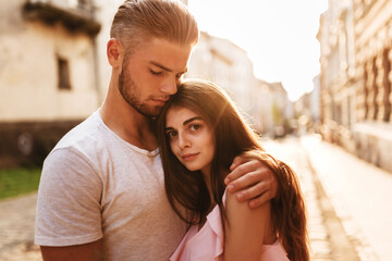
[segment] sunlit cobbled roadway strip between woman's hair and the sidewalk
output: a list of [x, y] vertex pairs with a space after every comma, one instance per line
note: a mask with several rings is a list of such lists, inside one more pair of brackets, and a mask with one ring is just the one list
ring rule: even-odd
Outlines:
[[360, 260], [329, 203], [301, 140], [265, 141], [264, 147], [298, 175], [308, 212], [310, 260]]

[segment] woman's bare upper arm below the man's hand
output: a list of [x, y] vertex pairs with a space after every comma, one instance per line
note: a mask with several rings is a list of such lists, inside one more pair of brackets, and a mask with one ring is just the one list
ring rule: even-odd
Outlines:
[[275, 240], [270, 201], [250, 209], [247, 202], [238, 202], [226, 191], [225, 213], [224, 260], [260, 261], [262, 245]]

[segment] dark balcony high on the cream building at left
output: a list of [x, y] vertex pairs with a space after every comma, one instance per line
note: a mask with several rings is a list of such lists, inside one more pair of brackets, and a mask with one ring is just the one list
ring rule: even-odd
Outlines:
[[94, 18], [90, 0], [27, 0], [23, 14], [26, 20], [39, 20], [48, 25], [61, 23], [72, 33], [84, 33], [91, 37], [101, 28]]

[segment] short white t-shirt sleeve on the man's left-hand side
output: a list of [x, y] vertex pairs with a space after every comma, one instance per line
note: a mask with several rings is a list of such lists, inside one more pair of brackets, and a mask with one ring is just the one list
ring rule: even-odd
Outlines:
[[102, 237], [102, 179], [77, 151], [57, 149], [45, 160], [37, 201], [35, 243], [72, 246]]

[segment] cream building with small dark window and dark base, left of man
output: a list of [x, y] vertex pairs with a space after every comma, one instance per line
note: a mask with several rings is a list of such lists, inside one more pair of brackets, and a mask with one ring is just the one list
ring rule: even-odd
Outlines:
[[0, 3], [0, 166], [40, 161], [101, 102], [89, 0]]

